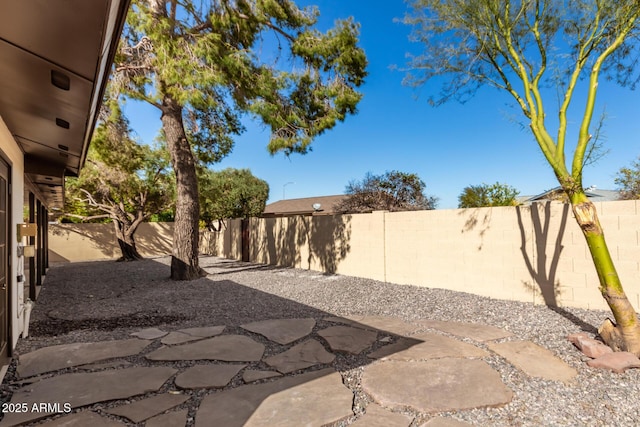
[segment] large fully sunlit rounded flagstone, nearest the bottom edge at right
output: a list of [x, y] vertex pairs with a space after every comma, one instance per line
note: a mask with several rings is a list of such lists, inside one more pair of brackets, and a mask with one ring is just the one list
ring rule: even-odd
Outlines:
[[513, 398], [498, 372], [477, 359], [375, 363], [365, 367], [362, 387], [385, 407], [419, 412], [501, 406]]

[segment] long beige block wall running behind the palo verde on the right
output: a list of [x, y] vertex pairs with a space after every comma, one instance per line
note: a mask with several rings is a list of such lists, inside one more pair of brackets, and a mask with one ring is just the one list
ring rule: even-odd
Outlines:
[[[640, 309], [640, 201], [596, 203], [625, 290]], [[240, 221], [202, 251], [241, 258]], [[536, 304], [606, 309], [568, 205], [250, 220], [250, 259]]]

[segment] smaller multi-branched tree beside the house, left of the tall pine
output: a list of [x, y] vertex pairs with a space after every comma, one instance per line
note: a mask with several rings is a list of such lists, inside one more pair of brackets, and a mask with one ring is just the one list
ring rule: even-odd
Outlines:
[[79, 178], [66, 182], [65, 215], [81, 221], [110, 219], [122, 261], [142, 256], [138, 226], [173, 203], [174, 184], [166, 150], [137, 144], [116, 104], [101, 112]]

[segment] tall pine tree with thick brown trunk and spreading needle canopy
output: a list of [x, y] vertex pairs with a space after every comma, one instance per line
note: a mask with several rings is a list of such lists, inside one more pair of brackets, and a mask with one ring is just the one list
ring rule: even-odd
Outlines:
[[248, 113], [271, 131], [271, 153], [306, 153], [356, 112], [366, 57], [358, 25], [322, 33], [316, 8], [291, 0], [133, 0], [114, 81], [161, 112], [176, 175], [171, 277], [200, 277], [196, 166], [218, 161]]

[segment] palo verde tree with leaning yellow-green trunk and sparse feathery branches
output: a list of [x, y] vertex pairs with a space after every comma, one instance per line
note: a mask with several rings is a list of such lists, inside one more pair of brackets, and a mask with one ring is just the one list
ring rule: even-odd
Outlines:
[[[606, 75], [623, 84], [635, 83], [631, 76], [640, 35], [637, 0], [411, 3], [413, 11], [405, 22], [414, 26], [413, 36], [424, 51], [412, 59], [415, 72], [408, 82], [418, 86], [446, 77], [442, 91], [431, 99], [434, 104], [465, 100], [482, 85], [511, 95], [567, 194], [587, 241], [600, 291], [617, 323], [607, 319], [600, 334], [614, 349], [640, 355], [638, 317], [582, 183], [583, 168], [597, 141], [598, 125], [592, 121], [598, 82]], [[545, 91], [547, 87], [555, 90]], [[575, 145], [567, 141], [570, 107], [581, 115]], [[550, 111], [557, 120], [550, 120]]]

